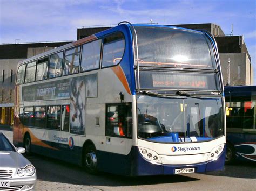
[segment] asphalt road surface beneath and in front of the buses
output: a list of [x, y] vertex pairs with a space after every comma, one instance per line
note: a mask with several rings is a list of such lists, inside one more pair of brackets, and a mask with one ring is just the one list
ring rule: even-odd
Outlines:
[[256, 165], [252, 162], [237, 162], [225, 166], [225, 171], [207, 174], [129, 178], [91, 175], [79, 166], [41, 155], [27, 158], [36, 167], [36, 190], [256, 190]]

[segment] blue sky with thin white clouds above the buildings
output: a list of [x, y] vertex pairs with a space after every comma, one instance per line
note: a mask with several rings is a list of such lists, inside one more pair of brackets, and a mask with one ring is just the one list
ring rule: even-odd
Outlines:
[[[0, 44], [77, 39], [77, 28], [131, 23], [214, 23], [243, 35], [256, 84], [256, 0], [0, 0]], [[18, 40], [17, 40], [18, 39]]]

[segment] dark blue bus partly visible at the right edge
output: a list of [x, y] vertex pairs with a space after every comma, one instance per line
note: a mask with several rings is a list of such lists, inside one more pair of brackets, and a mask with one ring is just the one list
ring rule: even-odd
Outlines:
[[256, 86], [227, 86], [224, 89], [226, 164], [232, 164], [235, 159], [256, 161]]

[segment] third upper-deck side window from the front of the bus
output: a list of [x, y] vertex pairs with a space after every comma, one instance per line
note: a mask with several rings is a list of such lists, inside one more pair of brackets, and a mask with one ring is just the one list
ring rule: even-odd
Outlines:
[[75, 74], [79, 71], [80, 46], [65, 51], [63, 75]]

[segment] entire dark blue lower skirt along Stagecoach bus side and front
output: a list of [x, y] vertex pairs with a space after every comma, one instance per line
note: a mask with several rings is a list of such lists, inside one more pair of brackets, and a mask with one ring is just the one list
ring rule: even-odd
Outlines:
[[[63, 160], [72, 164], [82, 165], [82, 147], [75, 146], [72, 150], [70, 150], [68, 145], [53, 142], [47, 143], [58, 147], [60, 150], [50, 150], [49, 148], [32, 145], [32, 151], [36, 151], [38, 154], [43, 154], [48, 157]], [[145, 160], [136, 146], [132, 146], [128, 155], [99, 150], [96, 151], [96, 154], [98, 161], [97, 167], [100, 171], [124, 176], [171, 175], [174, 174], [174, 171], [177, 168], [195, 168], [196, 173], [213, 170], [216, 171], [224, 168], [225, 161], [225, 152], [223, 152], [218, 160], [208, 163], [203, 162], [193, 165], [158, 165]]]

